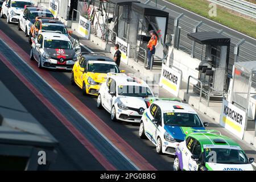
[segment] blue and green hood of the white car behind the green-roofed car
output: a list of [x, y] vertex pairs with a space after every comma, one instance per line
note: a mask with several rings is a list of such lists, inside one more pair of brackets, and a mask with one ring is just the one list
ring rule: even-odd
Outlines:
[[171, 134], [174, 139], [177, 139], [177, 140], [184, 140], [189, 133], [192, 133], [195, 130], [205, 130], [204, 127], [183, 127], [183, 126], [168, 126], [168, 125], [164, 125], [164, 129], [169, 134]]

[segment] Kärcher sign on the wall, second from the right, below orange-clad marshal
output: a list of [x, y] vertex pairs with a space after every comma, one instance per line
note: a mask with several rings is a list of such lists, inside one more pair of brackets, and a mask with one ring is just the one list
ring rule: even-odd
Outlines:
[[162, 73], [159, 81], [159, 86], [162, 86], [168, 92], [174, 94], [176, 97], [179, 94], [181, 75], [174, 69], [162, 64]]

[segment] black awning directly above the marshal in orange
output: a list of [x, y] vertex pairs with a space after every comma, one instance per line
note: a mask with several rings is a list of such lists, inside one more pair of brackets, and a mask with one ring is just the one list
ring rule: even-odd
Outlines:
[[161, 17], [169, 16], [169, 13], [167, 13], [166, 11], [156, 9], [153, 6], [145, 5], [143, 3], [133, 3], [133, 9], [143, 13], [144, 15], [149, 15], [149, 16], [161, 16]]

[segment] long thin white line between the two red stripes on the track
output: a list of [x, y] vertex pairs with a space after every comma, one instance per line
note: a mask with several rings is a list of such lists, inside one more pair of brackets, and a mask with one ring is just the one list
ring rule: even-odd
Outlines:
[[[1, 39], [2, 40], [2, 39]], [[3, 42], [3, 40], [2, 40]], [[9, 47], [5, 42], [3, 42], [7, 47]], [[11, 51], [13, 51], [12, 48], [9, 47], [9, 49], [11, 49]], [[14, 51], [13, 51], [14, 52]], [[141, 171], [140, 168], [138, 168], [125, 154], [123, 154], [123, 152], [121, 152], [112, 142], [110, 142], [110, 140], [108, 138], [105, 137], [104, 134], [101, 133], [100, 130], [98, 130], [87, 118], [84, 117], [84, 115], [82, 115], [73, 105], [71, 105], [63, 96], [61, 96], [61, 94], [59, 94], [51, 85], [48, 84], [48, 82], [46, 80], [44, 80], [44, 78], [42, 78], [33, 68], [30, 67], [30, 65], [28, 65], [26, 63], [26, 61], [24, 61], [16, 52], [14, 52], [16, 56], [19, 57], [20, 60], [22, 60], [22, 62], [24, 64], [27, 65], [28, 68], [30, 68], [32, 70], [32, 72], [34, 72], [37, 76], [39, 76], [57, 95], [59, 95], [65, 102], [67, 102], [67, 104], [69, 106], [71, 106], [82, 118], [84, 118], [84, 120], [89, 123], [90, 126], [93, 127], [94, 130], [96, 130], [98, 132], [98, 134], [101, 135], [101, 137], [103, 137], [115, 150], [117, 150], [119, 152], [119, 154], [121, 154], [123, 156], [123, 158], [125, 158], [134, 168], [136, 168], [138, 171]]]

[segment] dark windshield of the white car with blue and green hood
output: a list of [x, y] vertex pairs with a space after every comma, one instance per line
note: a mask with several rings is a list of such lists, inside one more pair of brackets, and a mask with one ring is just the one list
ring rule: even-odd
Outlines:
[[203, 127], [197, 114], [164, 113], [164, 125], [181, 127]]

